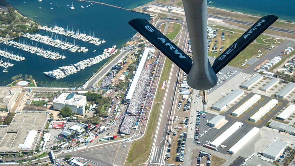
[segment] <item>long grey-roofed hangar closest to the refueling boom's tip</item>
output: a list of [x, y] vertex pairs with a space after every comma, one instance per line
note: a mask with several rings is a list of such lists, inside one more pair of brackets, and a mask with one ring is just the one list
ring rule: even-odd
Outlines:
[[221, 100], [216, 102], [212, 109], [221, 111], [223, 110], [227, 105], [230, 105], [232, 102], [237, 100], [240, 96], [244, 95], [244, 91], [240, 89], [234, 89], [232, 92], [230, 92], [228, 95], [223, 97]]

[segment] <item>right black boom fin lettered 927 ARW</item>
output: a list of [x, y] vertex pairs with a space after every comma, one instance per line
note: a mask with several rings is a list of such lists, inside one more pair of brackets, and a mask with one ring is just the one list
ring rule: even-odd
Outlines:
[[217, 74], [277, 19], [278, 17], [274, 15], [264, 16], [259, 19], [247, 32], [216, 58], [212, 65], [214, 72]]

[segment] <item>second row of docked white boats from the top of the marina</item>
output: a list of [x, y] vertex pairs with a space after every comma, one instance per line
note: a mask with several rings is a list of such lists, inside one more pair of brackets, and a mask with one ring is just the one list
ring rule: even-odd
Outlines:
[[35, 35], [26, 33], [23, 35], [26, 38], [29, 38], [30, 40], [34, 40], [36, 42], [44, 43], [53, 47], [57, 47], [63, 50], [69, 50], [70, 52], [87, 52], [88, 49], [85, 47], [80, 47], [79, 45], [73, 45], [71, 43], [61, 41], [58, 39], [50, 38], [49, 36], [43, 36], [39, 33], [36, 33]]

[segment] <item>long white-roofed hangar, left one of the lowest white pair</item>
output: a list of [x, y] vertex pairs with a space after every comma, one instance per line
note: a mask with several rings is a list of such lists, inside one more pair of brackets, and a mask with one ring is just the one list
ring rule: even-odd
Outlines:
[[218, 147], [223, 141], [228, 139], [232, 134], [234, 134], [237, 129], [242, 127], [243, 123], [236, 122], [230, 126], [226, 131], [224, 131], [220, 136], [218, 136], [214, 141], [211, 142], [210, 146]]

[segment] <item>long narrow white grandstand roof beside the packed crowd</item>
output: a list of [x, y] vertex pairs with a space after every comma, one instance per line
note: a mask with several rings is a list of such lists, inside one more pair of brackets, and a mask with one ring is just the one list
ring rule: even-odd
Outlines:
[[139, 62], [138, 67], [136, 69], [136, 73], [135, 73], [135, 75], [133, 77], [132, 83], [131, 83], [130, 88], [128, 90], [128, 93], [126, 95], [127, 100], [132, 99], [135, 87], [136, 87], [137, 82], [139, 80], [139, 76], [141, 74], [141, 71], [144, 68], [144, 65], [146, 63], [146, 58], [148, 57], [149, 51], [155, 51], [155, 48], [154, 47], [147, 47], [147, 48], [144, 49], [144, 53], [141, 56], [140, 62]]

